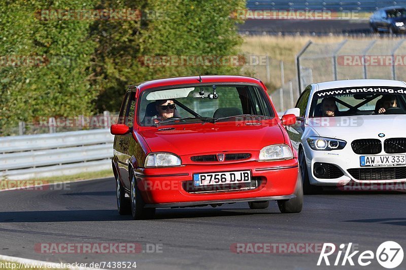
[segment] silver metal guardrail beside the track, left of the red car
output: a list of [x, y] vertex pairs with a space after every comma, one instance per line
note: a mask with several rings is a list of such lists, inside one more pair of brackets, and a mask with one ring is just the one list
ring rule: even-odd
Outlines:
[[109, 129], [0, 138], [0, 179], [25, 180], [111, 168]]

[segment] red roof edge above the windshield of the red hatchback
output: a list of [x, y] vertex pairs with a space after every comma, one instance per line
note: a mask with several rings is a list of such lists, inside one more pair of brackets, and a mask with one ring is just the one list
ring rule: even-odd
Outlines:
[[[144, 91], [149, 88], [162, 87], [162, 86], [172, 86], [172, 85], [183, 85], [183, 84], [198, 84], [199, 76], [190, 77], [177, 77], [169, 79], [154, 80], [142, 83], [138, 86], [140, 91]], [[212, 76], [201, 76], [201, 83], [251, 83], [263, 85], [258, 79], [254, 79], [246, 76], [230, 76], [230, 75], [212, 75]]]

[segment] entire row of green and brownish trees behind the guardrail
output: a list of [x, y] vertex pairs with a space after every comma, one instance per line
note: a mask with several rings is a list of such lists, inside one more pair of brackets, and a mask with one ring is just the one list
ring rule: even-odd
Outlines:
[[230, 14], [244, 8], [244, 0], [3, 0], [0, 135], [19, 121], [117, 111], [129, 84], [239, 74], [240, 66], [161, 60], [237, 55]]

